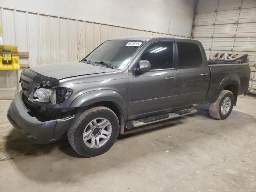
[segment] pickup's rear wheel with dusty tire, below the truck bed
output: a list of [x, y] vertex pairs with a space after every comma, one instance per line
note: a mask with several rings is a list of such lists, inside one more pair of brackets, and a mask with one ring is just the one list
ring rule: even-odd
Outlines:
[[[226, 111], [225, 110], [223, 111], [222, 104], [224, 103], [225, 100], [229, 100], [229, 98], [230, 98], [230, 108]], [[210, 116], [212, 116], [213, 118], [218, 119], [218, 120], [224, 120], [224, 119], [228, 118], [228, 116], [230, 115], [230, 113], [233, 109], [233, 106], [234, 106], [233, 93], [228, 90], [222, 90], [218, 99], [214, 103], [210, 104], [210, 108], [209, 108]]]

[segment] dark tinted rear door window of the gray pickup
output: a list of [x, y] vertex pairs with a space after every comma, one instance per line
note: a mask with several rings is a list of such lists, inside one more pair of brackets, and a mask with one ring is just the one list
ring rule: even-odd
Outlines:
[[202, 63], [202, 56], [197, 44], [177, 42], [179, 66], [195, 66]]

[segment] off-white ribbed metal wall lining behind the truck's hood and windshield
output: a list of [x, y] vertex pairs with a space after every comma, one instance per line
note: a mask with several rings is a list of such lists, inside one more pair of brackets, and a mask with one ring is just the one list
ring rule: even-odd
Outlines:
[[[0, 25], [4, 44], [29, 52], [30, 57], [20, 63], [31, 67], [80, 60], [105, 40], [120, 36], [186, 38], [7, 8], [0, 8]], [[17, 70], [0, 70], [0, 88], [16, 87], [17, 94], [19, 74]]]

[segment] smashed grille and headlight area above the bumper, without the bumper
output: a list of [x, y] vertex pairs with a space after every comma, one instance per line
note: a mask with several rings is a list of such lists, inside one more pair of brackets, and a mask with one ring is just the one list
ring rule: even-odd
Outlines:
[[38, 120], [54, 120], [74, 114], [72, 108], [65, 106], [73, 90], [58, 87], [58, 79], [24, 69], [20, 75], [20, 83], [23, 90], [22, 100], [30, 109], [30, 115]]

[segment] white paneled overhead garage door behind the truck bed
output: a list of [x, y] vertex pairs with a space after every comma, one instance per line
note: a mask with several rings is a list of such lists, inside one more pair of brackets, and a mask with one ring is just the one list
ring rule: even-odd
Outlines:
[[199, 0], [193, 38], [211, 53], [248, 54], [256, 88], [256, 0]]

